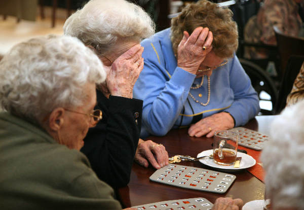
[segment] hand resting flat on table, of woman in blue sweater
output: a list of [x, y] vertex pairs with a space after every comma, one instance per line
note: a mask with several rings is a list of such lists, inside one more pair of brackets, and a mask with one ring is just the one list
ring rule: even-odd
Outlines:
[[234, 120], [229, 113], [220, 112], [191, 125], [188, 129], [190, 136], [201, 137], [205, 134], [206, 137], [212, 137], [217, 130], [227, 130], [234, 127]]

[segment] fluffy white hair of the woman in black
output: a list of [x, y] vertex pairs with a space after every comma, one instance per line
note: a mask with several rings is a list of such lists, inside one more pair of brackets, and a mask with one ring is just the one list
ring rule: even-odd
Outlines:
[[152, 36], [155, 23], [141, 7], [125, 0], [91, 0], [65, 21], [63, 30], [102, 54], [118, 40], [139, 43]]

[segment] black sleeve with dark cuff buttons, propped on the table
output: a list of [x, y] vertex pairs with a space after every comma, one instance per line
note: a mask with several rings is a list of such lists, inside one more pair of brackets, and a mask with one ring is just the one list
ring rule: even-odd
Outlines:
[[100, 180], [113, 188], [123, 187], [130, 181], [140, 136], [142, 100], [97, 95], [97, 102], [103, 119], [89, 129], [81, 151]]

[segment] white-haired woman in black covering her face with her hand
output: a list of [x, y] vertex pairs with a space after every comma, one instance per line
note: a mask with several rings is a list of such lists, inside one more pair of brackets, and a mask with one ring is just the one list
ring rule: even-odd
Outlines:
[[167, 165], [164, 146], [139, 139], [142, 100], [133, 98], [144, 63], [139, 43], [155, 31], [149, 15], [125, 0], [91, 0], [63, 29], [91, 48], [108, 73], [96, 90], [103, 119], [89, 130], [81, 149], [98, 177], [115, 188], [127, 185], [134, 155], [145, 167], [148, 161], [155, 168]]

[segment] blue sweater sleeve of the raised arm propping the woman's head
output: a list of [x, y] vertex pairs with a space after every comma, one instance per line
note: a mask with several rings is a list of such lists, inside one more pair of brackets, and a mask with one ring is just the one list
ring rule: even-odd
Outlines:
[[176, 67], [170, 75], [151, 45], [146, 45], [144, 68], [133, 96], [143, 100], [142, 127], [152, 135], [165, 135], [174, 125], [196, 75]]

